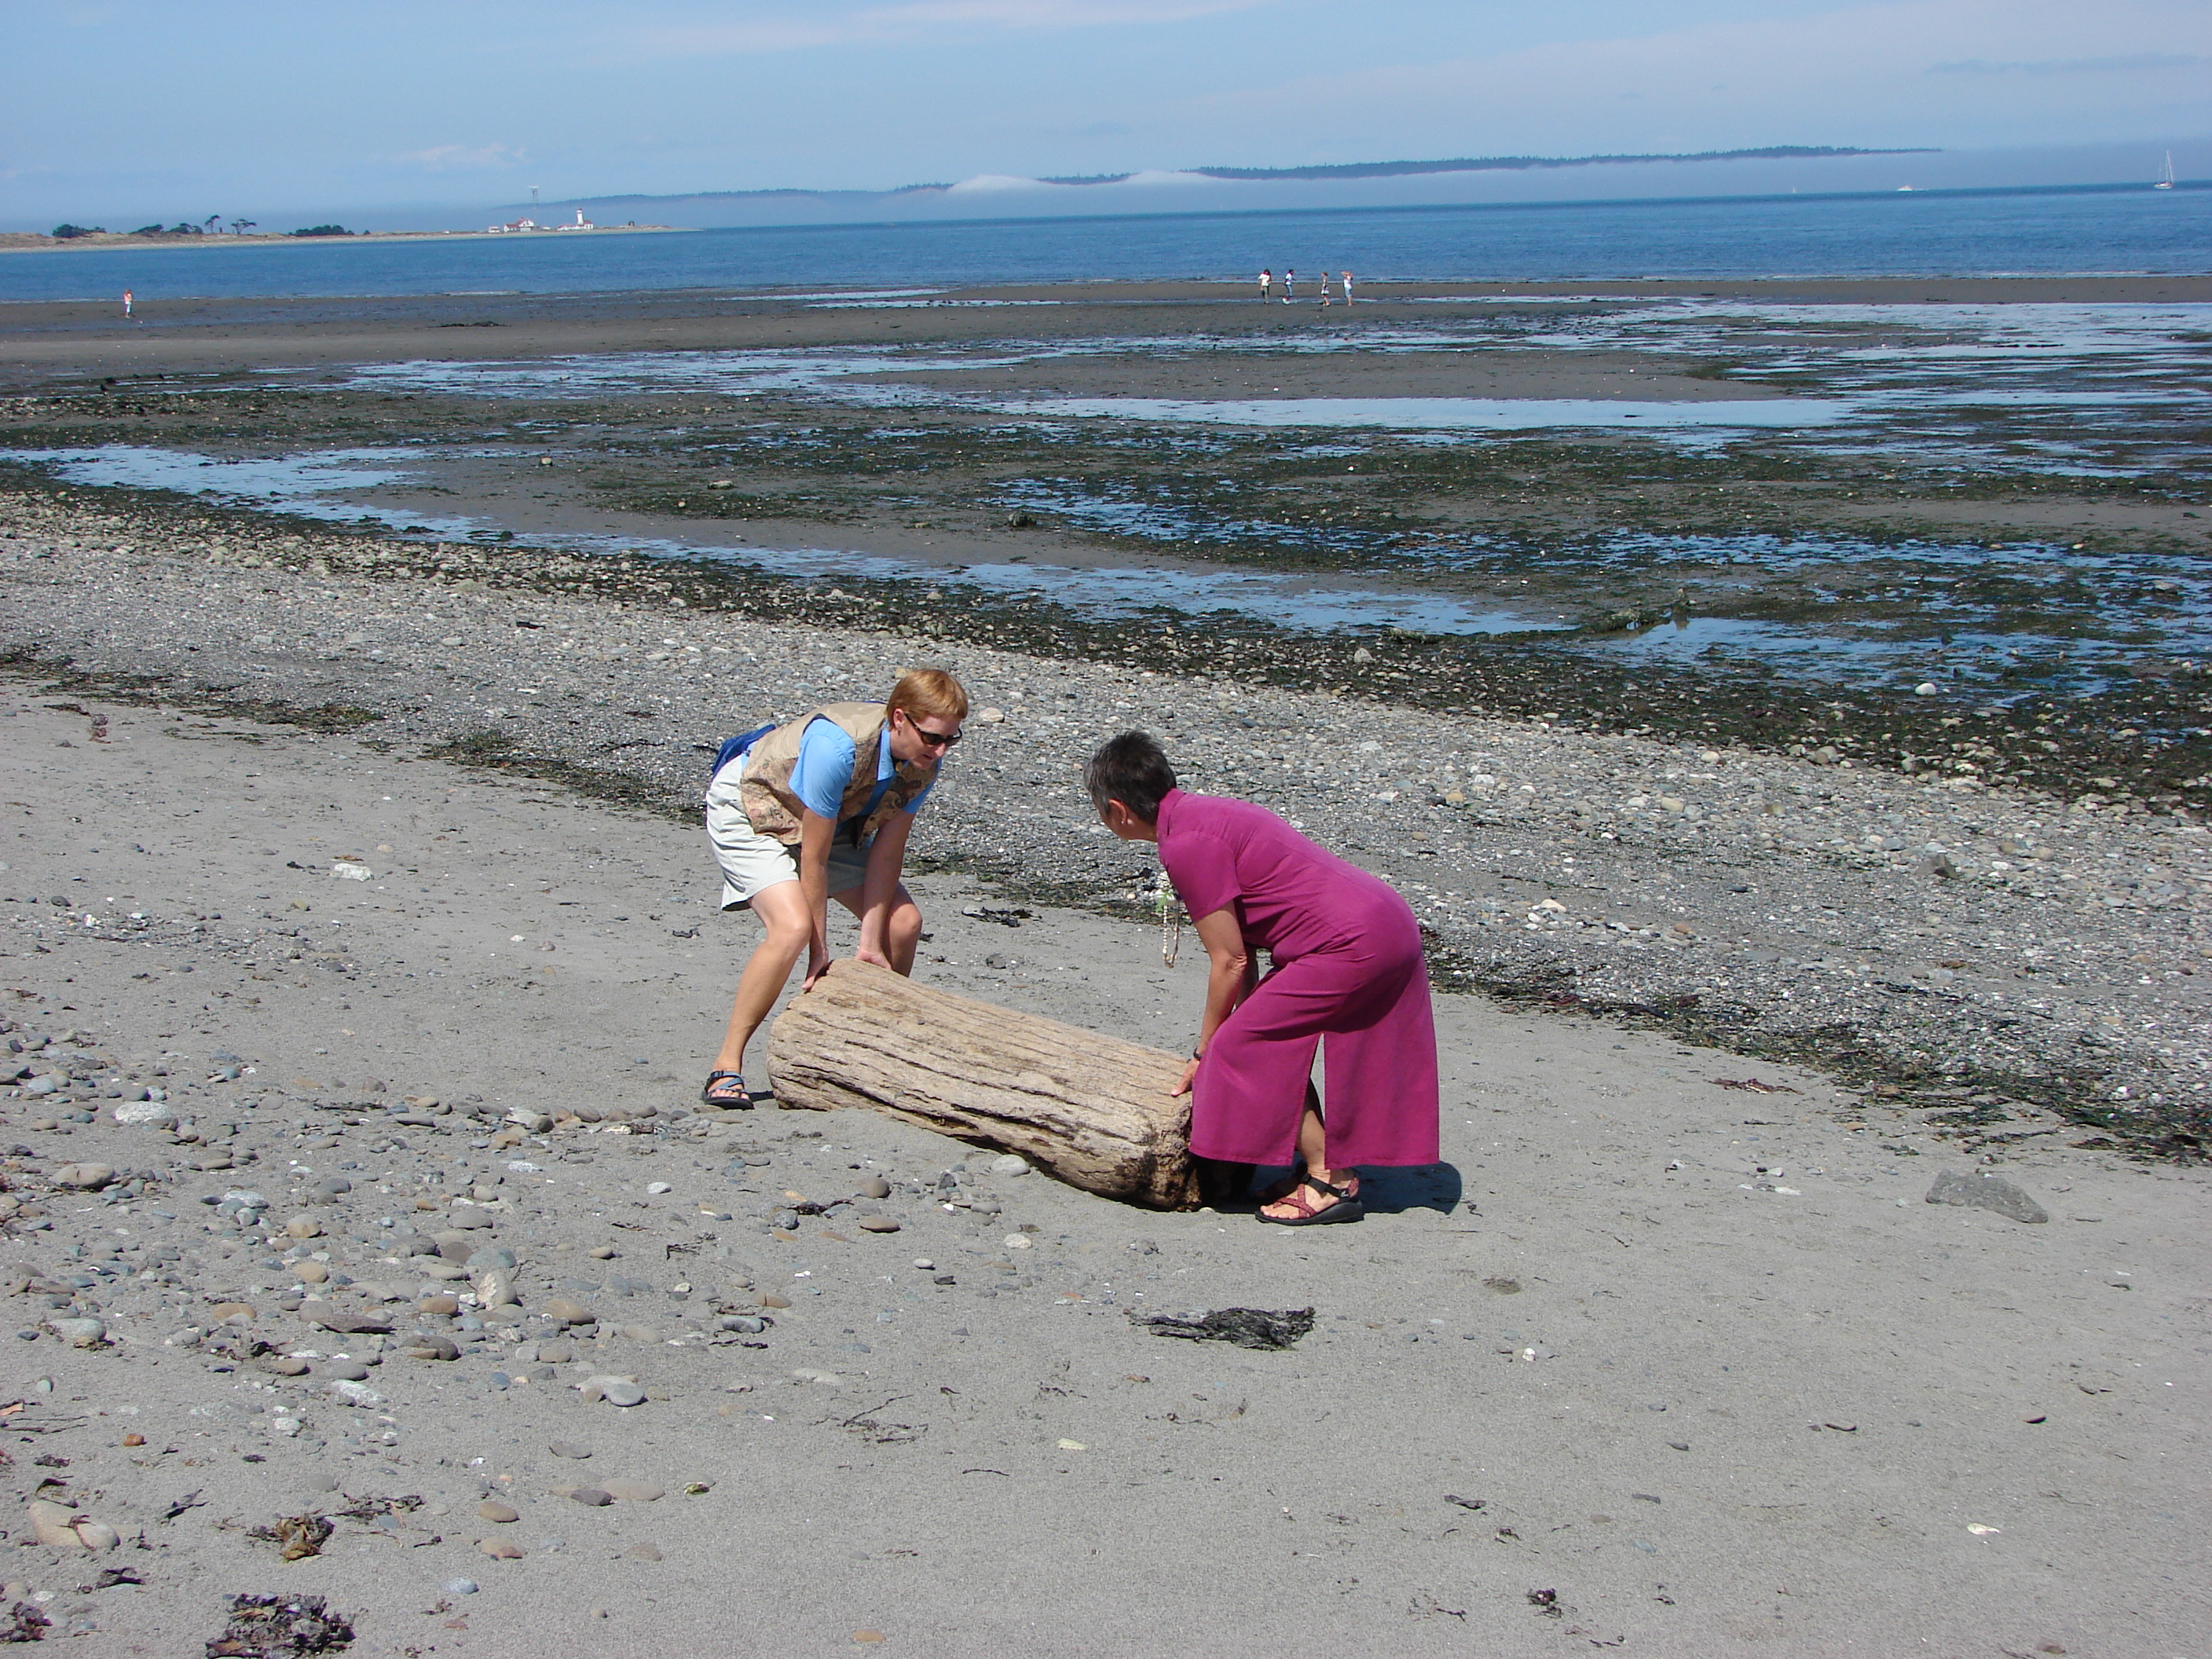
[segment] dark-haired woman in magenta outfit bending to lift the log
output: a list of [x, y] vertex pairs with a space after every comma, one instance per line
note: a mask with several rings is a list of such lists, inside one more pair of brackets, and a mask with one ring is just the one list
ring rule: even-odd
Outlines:
[[[1099, 748], [1084, 783], [1121, 841], [1159, 843], [1212, 962], [1175, 1091], [1190, 1091], [1190, 1150], [1228, 1164], [1303, 1159], [1303, 1177], [1259, 1212], [1292, 1228], [1358, 1221], [1360, 1164], [1436, 1164], [1436, 1020], [1407, 902], [1265, 807], [1183, 794], [1144, 732]], [[1265, 978], [1254, 978], [1254, 947], [1274, 962]]]

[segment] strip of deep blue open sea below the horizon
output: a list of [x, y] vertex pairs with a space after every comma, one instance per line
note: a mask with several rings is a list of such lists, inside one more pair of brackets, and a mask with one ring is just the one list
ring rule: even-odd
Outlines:
[[[212, 241], [212, 239], [210, 239]], [[874, 290], [1071, 281], [1365, 281], [2203, 272], [2212, 188], [1922, 190], [1694, 201], [856, 223], [0, 254], [0, 303], [624, 290]], [[907, 290], [907, 292], [885, 292]], [[812, 303], [856, 303], [821, 296]]]

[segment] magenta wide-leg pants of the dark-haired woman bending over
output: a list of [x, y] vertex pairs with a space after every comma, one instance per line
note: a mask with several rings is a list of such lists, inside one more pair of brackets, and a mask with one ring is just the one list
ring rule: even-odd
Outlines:
[[1296, 1161], [1314, 1044], [1329, 1168], [1436, 1164], [1436, 1015], [1420, 927], [1396, 894], [1343, 942], [1276, 964], [1221, 1022], [1190, 1088], [1190, 1150]]

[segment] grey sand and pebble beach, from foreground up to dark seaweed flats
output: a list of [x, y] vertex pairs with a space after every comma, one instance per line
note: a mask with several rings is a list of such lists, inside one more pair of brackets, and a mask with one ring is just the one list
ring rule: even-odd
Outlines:
[[[9, 1597], [80, 1650], [197, 1646], [239, 1593], [376, 1655], [2212, 1628], [2188, 818], [675, 606], [646, 562], [577, 595], [526, 551], [0, 507], [7, 1478], [124, 1540], [15, 1551]], [[1513, 993], [1440, 995], [1447, 1161], [1307, 1237], [695, 1110], [752, 938], [701, 748], [902, 661], [1000, 717], [918, 836], [922, 975], [1188, 1040], [1194, 951], [1128, 920], [1146, 863], [1071, 770], [1164, 730], [1394, 878], [1442, 989]], [[453, 1298], [493, 1265], [515, 1303]], [[1232, 1305], [1316, 1325], [1130, 1323]], [[254, 1537], [303, 1515], [316, 1555]]]

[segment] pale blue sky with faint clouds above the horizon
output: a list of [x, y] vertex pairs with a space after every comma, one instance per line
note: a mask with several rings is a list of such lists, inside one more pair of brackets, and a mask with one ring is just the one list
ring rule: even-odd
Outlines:
[[7, 228], [2212, 133], [2203, 0], [7, 0], [0, 49]]

